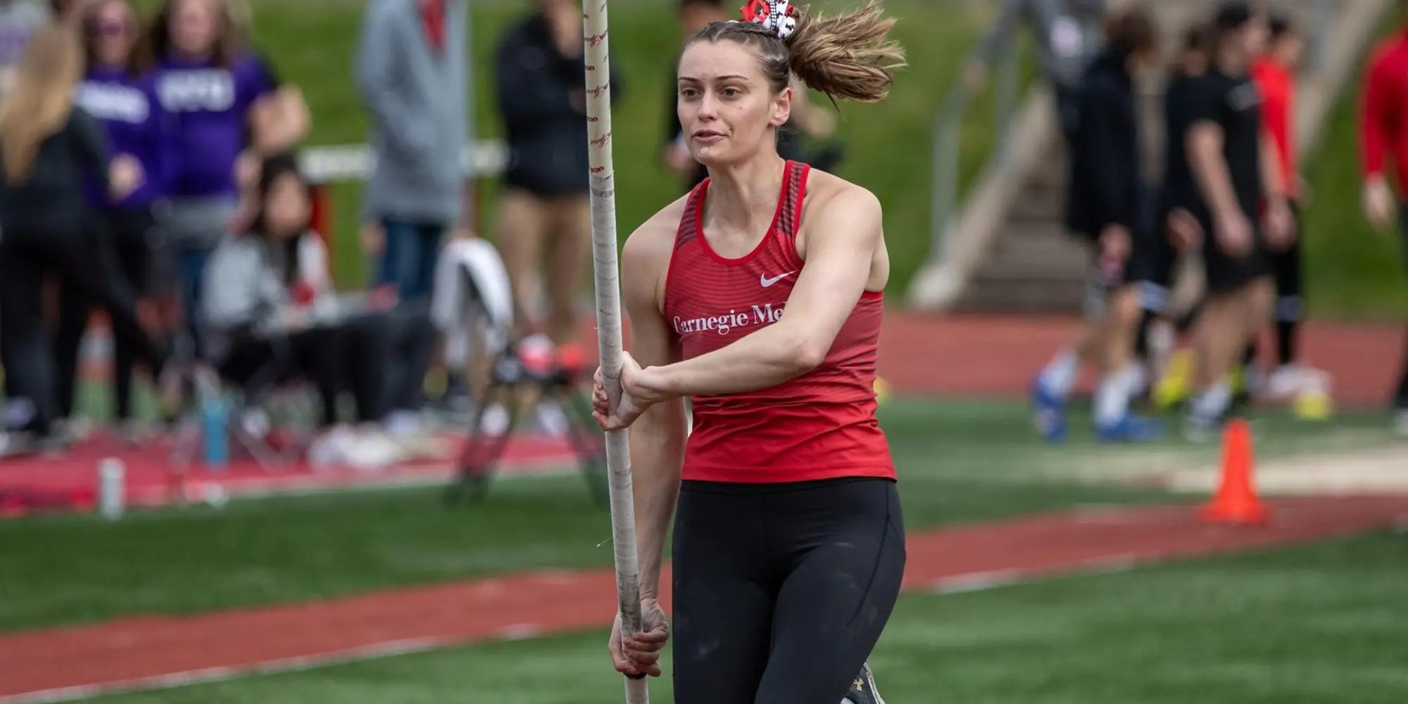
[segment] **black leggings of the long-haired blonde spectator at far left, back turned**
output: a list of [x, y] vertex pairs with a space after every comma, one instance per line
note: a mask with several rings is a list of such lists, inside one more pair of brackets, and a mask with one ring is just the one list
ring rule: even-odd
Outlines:
[[[11, 398], [32, 404], [28, 418], [10, 429], [48, 435], [56, 418], [54, 355], [44, 327], [45, 277], [58, 273], [65, 289], [77, 287], [113, 315], [115, 334], [139, 341], [142, 356], [159, 372], [165, 356], [137, 322], [137, 297], [113, 280], [100, 253], [87, 246], [82, 222], [56, 220], [44, 227], [10, 224], [0, 237], [0, 359]], [[7, 418], [15, 421], [15, 418]]]

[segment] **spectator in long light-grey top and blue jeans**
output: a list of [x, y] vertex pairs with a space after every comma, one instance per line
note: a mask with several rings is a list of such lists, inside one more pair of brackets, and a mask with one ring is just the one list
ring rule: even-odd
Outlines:
[[372, 117], [376, 168], [363, 197], [363, 246], [380, 258], [376, 284], [396, 289], [418, 329], [393, 425], [413, 429], [435, 356], [429, 322], [435, 262], [446, 232], [465, 218], [466, 66], [463, 0], [373, 0], [363, 15], [356, 83]]

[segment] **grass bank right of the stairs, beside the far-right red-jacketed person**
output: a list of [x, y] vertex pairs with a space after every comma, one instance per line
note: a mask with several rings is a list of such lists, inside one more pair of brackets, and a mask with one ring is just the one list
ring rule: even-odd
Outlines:
[[[1388, 17], [1384, 32], [1398, 31]], [[1305, 290], [1311, 313], [1325, 317], [1408, 315], [1408, 279], [1397, 228], [1376, 232], [1360, 210], [1360, 75], [1346, 82], [1321, 148], [1305, 163], [1315, 200], [1305, 213]]]

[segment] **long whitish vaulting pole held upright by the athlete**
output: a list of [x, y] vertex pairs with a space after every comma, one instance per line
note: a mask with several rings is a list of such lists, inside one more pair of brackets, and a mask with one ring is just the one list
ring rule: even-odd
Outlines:
[[[583, 1], [587, 63], [587, 146], [591, 169], [591, 268], [597, 290], [597, 351], [612, 401], [621, 394], [621, 280], [617, 265], [615, 175], [611, 165], [611, 59], [607, 54], [607, 0]], [[631, 490], [628, 431], [607, 432], [611, 489], [611, 542], [615, 545], [617, 607], [621, 634], [641, 632], [641, 573], [635, 555], [635, 503]], [[627, 704], [648, 704], [645, 679], [625, 680]]]

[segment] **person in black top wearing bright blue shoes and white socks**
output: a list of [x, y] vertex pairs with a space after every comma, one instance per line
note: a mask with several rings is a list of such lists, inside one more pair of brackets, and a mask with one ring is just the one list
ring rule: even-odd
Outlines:
[[1066, 227], [1090, 239], [1094, 262], [1087, 298], [1087, 329], [1062, 351], [1033, 384], [1038, 429], [1049, 441], [1064, 436], [1064, 403], [1079, 360], [1101, 370], [1095, 390], [1095, 434], [1104, 441], [1149, 441], [1159, 425], [1129, 413], [1142, 379], [1131, 360], [1139, 297], [1131, 275], [1148, 246], [1142, 144], [1135, 107], [1135, 76], [1157, 55], [1157, 31], [1142, 6], [1110, 20], [1105, 49], [1080, 82], [1081, 120], [1073, 132]]

